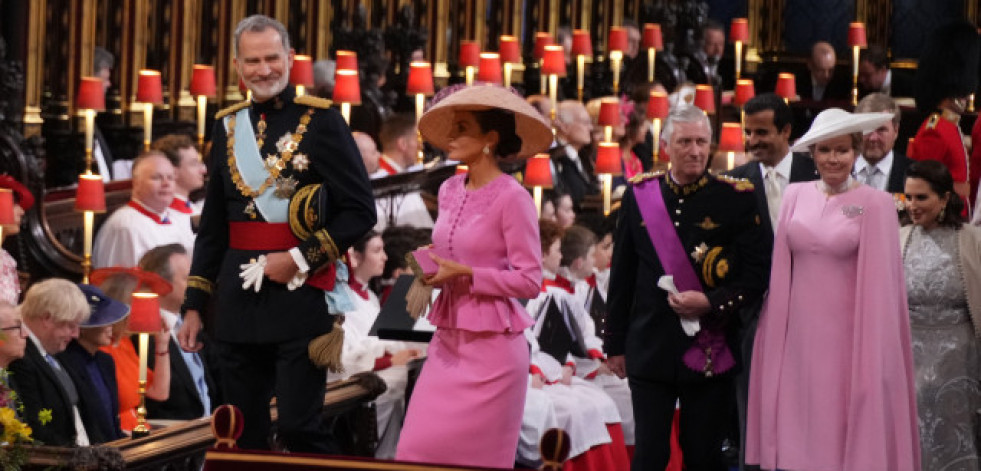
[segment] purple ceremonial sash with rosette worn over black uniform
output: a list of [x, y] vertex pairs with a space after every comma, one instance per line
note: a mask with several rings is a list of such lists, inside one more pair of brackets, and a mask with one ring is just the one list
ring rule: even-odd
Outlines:
[[[667, 175], [664, 178], [671, 178]], [[685, 246], [678, 238], [668, 208], [664, 205], [661, 195], [660, 179], [649, 179], [634, 185], [634, 196], [637, 209], [644, 220], [647, 235], [654, 244], [665, 275], [674, 277], [674, 285], [679, 292], [702, 290], [702, 283], [695, 274], [695, 268], [688, 261]], [[706, 377], [725, 373], [736, 365], [736, 360], [726, 345], [725, 334], [716, 329], [708, 329], [704, 325], [695, 334], [695, 340], [682, 357], [685, 366], [704, 373]]]

